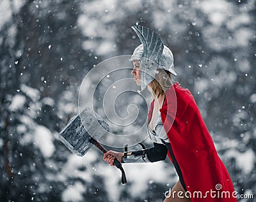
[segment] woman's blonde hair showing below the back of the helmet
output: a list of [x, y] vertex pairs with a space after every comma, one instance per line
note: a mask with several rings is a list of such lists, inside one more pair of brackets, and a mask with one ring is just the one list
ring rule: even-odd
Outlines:
[[149, 84], [156, 97], [163, 96], [166, 90], [172, 86], [170, 71], [164, 69], [157, 69], [155, 79]]

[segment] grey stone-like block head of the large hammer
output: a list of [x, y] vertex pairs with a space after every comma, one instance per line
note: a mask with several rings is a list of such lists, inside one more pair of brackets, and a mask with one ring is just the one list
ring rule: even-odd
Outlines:
[[60, 132], [59, 138], [74, 154], [83, 156], [92, 147], [92, 138], [99, 140], [106, 131], [108, 124], [90, 108], [72, 117], [67, 126]]

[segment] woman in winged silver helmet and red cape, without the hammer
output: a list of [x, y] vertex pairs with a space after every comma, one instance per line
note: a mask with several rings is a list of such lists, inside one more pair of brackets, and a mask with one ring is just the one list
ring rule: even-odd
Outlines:
[[156, 33], [147, 27], [132, 27], [142, 45], [134, 50], [132, 75], [137, 85], [147, 87], [154, 100], [148, 112], [148, 134], [154, 147], [134, 152], [109, 151], [104, 160], [155, 162], [168, 157], [179, 181], [164, 199], [192, 202], [234, 202], [236, 192], [227, 169], [216, 152], [195, 99], [188, 89], [172, 83], [173, 55]]

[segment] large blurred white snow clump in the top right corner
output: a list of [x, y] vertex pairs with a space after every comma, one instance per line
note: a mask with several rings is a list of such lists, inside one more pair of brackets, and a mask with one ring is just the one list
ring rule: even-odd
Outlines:
[[[204, 40], [212, 49], [221, 51], [228, 48], [248, 47], [253, 31], [248, 29], [252, 18], [246, 12], [225, 0], [202, 1], [196, 6], [211, 24], [204, 27]], [[227, 29], [221, 29], [221, 26]]]

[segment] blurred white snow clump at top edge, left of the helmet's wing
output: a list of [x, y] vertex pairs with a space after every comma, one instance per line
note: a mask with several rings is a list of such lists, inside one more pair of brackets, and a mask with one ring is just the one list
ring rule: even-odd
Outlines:
[[[129, 1], [129, 5], [133, 2]], [[118, 30], [115, 25], [109, 24], [115, 22], [116, 17], [124, 15], [122, 6], [118, 6], [118, 3], [116, 0], [92, 1], [82, 6], [84, 15], [79, 16], [77, 24], [83, 29], [84, 36], [89, 38], [83, 42], [84, 50], [93, 50], [97, 55], [108, 55], [115, 52]], [[96, 38], [100, 40], [95, 40]]]

